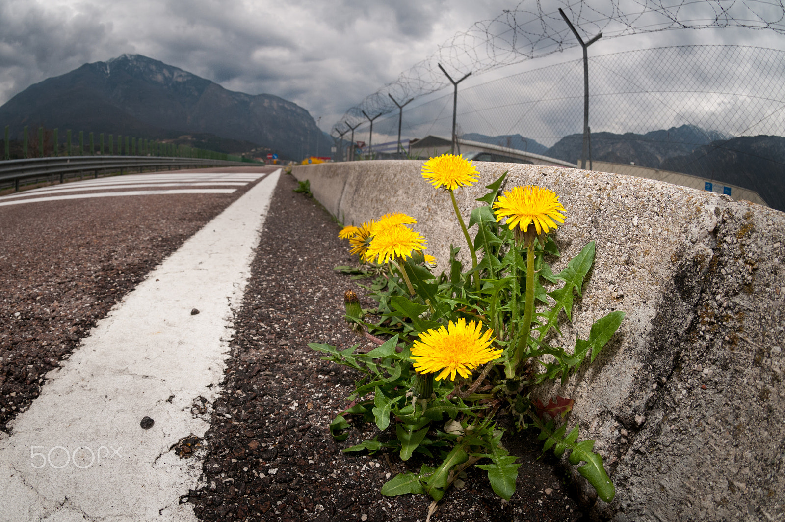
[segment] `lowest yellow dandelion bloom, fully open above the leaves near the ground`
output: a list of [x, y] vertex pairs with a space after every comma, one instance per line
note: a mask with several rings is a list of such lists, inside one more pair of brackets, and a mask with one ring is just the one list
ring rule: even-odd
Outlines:
[[459, 318], [458, 322], [419, 334], [420, 340], [411, 347], [414, 369], [419, 373], [441, 371], [436, 380], [454, 380], [455, 373], [469, 377], [473, 369], [502, 355], [502, 350], [490, 347], [495, 339], [491, 339], [493, 331], [481, 333], [481, 329], [481, 323], [470, 321], [467, 325], [465, 318]]

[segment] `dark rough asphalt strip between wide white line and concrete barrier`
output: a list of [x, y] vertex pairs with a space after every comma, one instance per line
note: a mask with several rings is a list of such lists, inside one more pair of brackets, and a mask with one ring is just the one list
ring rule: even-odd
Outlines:
[[[427, 458], [403, 462], [394, 453], [341, 451], [377, 435], [375, 425], [353, 425], [340, 443], [330, 436], [330, 421], [348, 405], [345, 397], [360, 377], [321, 360], [308, 344], [356, 344], [342, 319], [343, 292], [365, 291], [333, 270], [354, 263], [338, 239], [340, 226], [315, 200], [293, 193], [296, 187], [282, 175], [272, 198], [235, 317], [224, 392], [212, 405], [213, 425], [183, 453], [206, 454], [203, 486], [181, 502], [191, 502], [201, 520], [424, 521], [431, 503], [425, 495], [387, 498], [379, 489]], [[364, 298], [363, 307], [372, 306]], [[431, 520], [584, 518], [553, 455], [538, 460], [535, 430], [510, 429], [503, 442], [523, 463], [513, 498], [496, 497], [485, 472], [469, 469], [463, 487], [447, 492]]]

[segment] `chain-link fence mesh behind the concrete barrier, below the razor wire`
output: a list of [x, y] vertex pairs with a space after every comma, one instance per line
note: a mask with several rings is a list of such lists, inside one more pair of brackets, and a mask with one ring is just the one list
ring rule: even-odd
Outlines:
[[[785, 208], [785, 51], [671, 46], [589, 59], [593, 160], [744, 186]], [[403, 111], [403, 138], [451, 136], [452, 88]], [[443, 95], [439, 95], [443, 94]], [[458, 134], [577, 163], [582, 60], [458, 88]], [[369, 125], [355, 130], [367, 139]], [[374, 121], [396, 140], [398, 112]]]

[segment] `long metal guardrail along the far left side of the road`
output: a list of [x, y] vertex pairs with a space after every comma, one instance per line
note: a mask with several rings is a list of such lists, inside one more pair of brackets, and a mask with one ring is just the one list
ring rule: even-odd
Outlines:
[[206, 158], [184, 158], [167, 156], [57, 156], [48, 158], [31, 158], [27, 160], [0, 161], [0, 184], [13, 181], [14, 189], [19, 191], [19, 182], [23, 179], [59, 176], [64, 182], [66, 175], [93, 171], [98, 177], [99, 171], [120, 171], [131, 168], [168, 168], [188, 167], [235, 167], [248, 165], [241, 161], [208, 160]]

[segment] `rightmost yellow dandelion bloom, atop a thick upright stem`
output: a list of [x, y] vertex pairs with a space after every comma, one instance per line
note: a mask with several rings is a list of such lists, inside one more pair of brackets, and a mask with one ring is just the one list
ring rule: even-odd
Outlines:
[[[510, 229], [518, 228], [526, 232], [531, 223], [534, 223], [538, 234], [547, 233], [549, 229], [557, 228], [556, 222], [563, 223], [564, 207], [559, 203], [559, 197], [552, 190], [539, 186], [527, 185], [513, 187], [493, 204], [496, 221], [507, 218]], [[531, 234], [533, 237], [533, 234]]]

